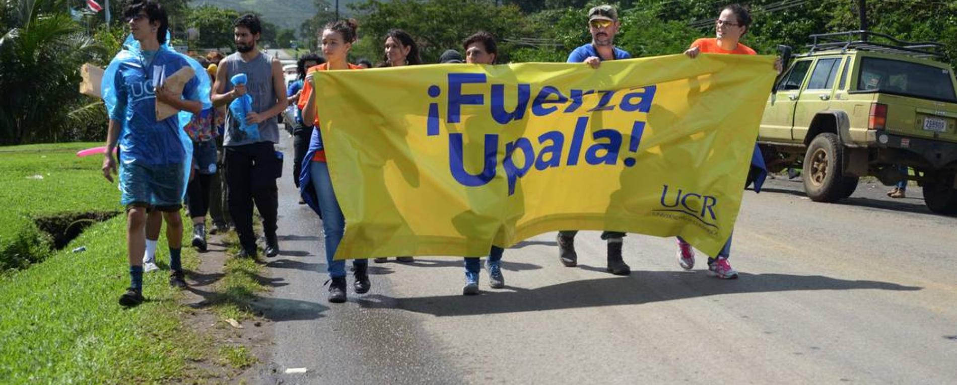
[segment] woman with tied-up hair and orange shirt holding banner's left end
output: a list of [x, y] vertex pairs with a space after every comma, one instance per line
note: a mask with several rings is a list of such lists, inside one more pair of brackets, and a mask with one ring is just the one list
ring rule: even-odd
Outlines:
[[[330, 22], [323, 28], [322, 43], [326, 63], [312, 67], [306, 73], [299, 99], [299, 108], [302, 110], [302, 121], [311, 121], [315, 125], [312, 139], [309, 142], [309, 151], [302, 159], [300, 178], [300, 195], [302, 201], [309, 204], [316, 213], [323, 217], [323, 238], [325, 243], [325, 262], [329, 272], [329, 302], [345, 302], [345, 261], [332, 259], [336, 255], [336, 248], [345, 233], [345, 217], [343, 210], [336, 200], [336, 193], [329, 179], [329, 167], [325, 163], [323, 137], [319, 130], [319, 117], [316, 115], [316, 93], [312, 88], [312, 75], [316, 71], [325, 70], [358, 70], [345, 61], [346, 55], [356, 41], [355, 20], [339, 20]], [[356, 259], [352, 261], [355, 267], [353, 284], [357, 293], [365, 293], [369, 289], [368, 260]]]

